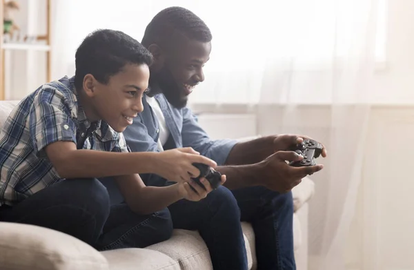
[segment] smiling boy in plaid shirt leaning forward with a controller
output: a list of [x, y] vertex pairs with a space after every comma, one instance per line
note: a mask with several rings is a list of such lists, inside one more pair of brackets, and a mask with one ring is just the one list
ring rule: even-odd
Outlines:
[[[14, 108], [0, 135], [0, 221], [45, 226], [99, 250], [146, 247], [170, 237], [166, 206], [211, 191], [190, 180], [191, 148], [128, 153], [122, 131], [143, 106], [152, 56], [123, 32], [97, 30], [76, 52], [75, 77], [45, 84]], [[178, 182], [145, 186], [137, 173]], [[113, 176], [126, 203], [110, 207], [96, 177]], [[225, 181], [225, 177], [222, 177]], [[190, 186], [195, 189], [190, 188]]]

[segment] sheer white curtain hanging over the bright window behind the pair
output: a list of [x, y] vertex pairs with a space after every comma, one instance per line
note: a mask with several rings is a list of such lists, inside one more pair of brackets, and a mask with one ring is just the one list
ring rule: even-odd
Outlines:
[[193, 10], [213, 32], [213, 51], [191, 105], [246, 106], [257, 114], [257, 133], [301, 133], [328, 147], [324, 171], [311, 176], [308, 268], [341, 270], [362, 177], [371, 83], [385, 57], [385, 1], [57, 1], [53, 76], [73, 74], [75, 49], [96, 28], [140, 41], [162, 8]]

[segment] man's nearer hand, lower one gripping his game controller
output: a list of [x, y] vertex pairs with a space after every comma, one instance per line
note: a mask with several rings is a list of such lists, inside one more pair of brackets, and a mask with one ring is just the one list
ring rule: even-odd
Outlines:
[[257, 179], [268, 189], [285, 193], [293, 189], [306, 175], [322, 170], [324, 166], [293, 167], [286, 161], [299, 161], [303, 157], [293, 151], [278, 151], [259, 162]]

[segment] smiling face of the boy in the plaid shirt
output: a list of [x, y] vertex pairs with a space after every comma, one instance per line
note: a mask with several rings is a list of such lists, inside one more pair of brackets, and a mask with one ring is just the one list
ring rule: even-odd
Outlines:
[[148, 88], [149, 77], [146, 64], [127, 64], [109, 78], [108, 84], [101, 84], [92, 75], [86, 75], [83, 90], [92, 109], [86, 110], [88, 119], [91, 122], [101, 119], [115, 131], [125, 131], [143, 110], [141, 99]]

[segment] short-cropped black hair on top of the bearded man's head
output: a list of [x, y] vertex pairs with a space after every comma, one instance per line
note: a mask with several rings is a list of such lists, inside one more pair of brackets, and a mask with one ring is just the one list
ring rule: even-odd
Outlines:
[[206, 23], [190, 10], [170, 7], [161, 10], [146, 27], [142, 44], [148, 48], [151, 44], [159, 46], [170, 44], [177, 33], [188, 39], [210, 42], [212, 35]]

